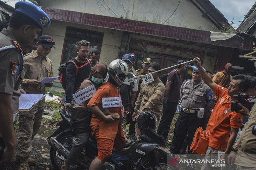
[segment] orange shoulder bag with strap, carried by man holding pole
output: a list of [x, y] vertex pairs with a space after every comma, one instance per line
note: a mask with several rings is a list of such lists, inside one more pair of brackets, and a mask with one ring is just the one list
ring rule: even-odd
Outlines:
[[213, 131], [231, 113], [232, 112], [229, 112], [224, 117], [222, 117], [213, 127], [209, 129], [208, 132], [203, 131], [202, 127], [197, 128], [194, 134], [193, 142], [190, 146], [190, 150], [192, 151], [193, 154], [206, 154], [209, 145], [209, 133], [211, 133], [211, 131]]

